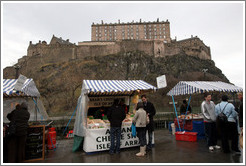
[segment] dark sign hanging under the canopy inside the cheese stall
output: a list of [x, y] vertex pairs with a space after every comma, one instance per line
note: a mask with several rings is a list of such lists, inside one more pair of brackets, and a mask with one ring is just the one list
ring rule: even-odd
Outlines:
[[110, 97], [89, 97], [89, 107], [110, 107], [113, 105], [114, 99], [124, 100], [129, 105], [128, 96], [110, 96]]

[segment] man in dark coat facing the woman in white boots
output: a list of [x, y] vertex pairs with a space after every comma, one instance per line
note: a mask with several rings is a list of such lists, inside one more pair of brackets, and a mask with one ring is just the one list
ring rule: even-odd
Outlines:
[[147, 144], [147, 150], [151, 150], [152, 148], [152, 139], [153, 139], [153, 131], [155, 128], [155, 123], [154, 123], [154, 116], [156, 113], [154, 105], [147, 100], [146, 95], [141, 96], [141, 100], [144, 104], [144, 110], [148, 113], [149, 115], [149, 124], [146, 126], [146, 130], [148, 131], [148, 144]]

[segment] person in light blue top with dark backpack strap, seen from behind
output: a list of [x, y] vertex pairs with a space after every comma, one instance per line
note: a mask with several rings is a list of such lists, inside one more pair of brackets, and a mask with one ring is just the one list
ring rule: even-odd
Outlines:
[[[219, 131], [221, 133], [222, 149], [224, 153], [230, 153], [231, 150], [240, 153], [238, 148], [238, 130], [237, 130], [237, 116], [233, 104], [228, 103], [228, 96], [223, 95], [222, 101], [215, 106], [215, 114], [218, 116], [222, 111], [227, 116], [228, 122], [219, 123]], [[231, 150], [229, 147], [229, 138], [231, 138]]]

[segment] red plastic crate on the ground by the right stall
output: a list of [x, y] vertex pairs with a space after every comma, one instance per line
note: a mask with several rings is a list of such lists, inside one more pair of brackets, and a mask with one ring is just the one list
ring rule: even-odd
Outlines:
[[197, 141], [197, 132], [177, 131], [175, 132], [175, 136], [177, 141], [189, 141], [189, 142]]

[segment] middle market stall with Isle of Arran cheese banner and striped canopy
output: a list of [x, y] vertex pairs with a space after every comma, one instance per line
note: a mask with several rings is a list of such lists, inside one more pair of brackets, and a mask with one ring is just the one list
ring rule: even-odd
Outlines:
[[[109, 108], [114, 99], [124, 101], [129, 110], [130, 100], [133, 95], [153, 92], [156, 87], [142, 80], [84, 80], [81, 95], [77, 103], [77, 112], [74, 124], [74, 148], [79, 148], [83, 142], [85, 152], [109, 150], [110, 123], [104, 116], [95, 119], [92, 111], [96, 108]], [[105, 113], [106, 114], [106, 113]], [[139, 146], [138, 138], [131, 135], [132, 110], [126, 115], [122, 123], [121, 148]], [[79, 141], [80, 140], [80, 141]], [[153, 142], [154, 143], [154, 139]]]

